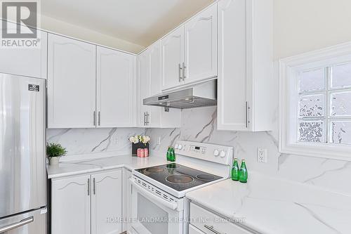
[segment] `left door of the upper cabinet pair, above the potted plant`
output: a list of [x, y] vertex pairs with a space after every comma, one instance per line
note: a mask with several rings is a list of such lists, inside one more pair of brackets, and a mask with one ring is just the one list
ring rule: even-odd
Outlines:
[[95, 46], [48, 35], [48, 128], [95, 127]]

